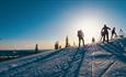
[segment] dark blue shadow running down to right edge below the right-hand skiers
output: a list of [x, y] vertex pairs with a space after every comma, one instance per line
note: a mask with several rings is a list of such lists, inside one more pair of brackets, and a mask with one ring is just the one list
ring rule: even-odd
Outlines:
[[112, 43], [107, 43], [107, 44], [99, 44], [100, 47], [104, 48], [106, 52], [112, 53], [113, 55], [115, 55], [121, 62], [126, 63], [126, 56], [123, 55], [119, 47], [114, 46]]

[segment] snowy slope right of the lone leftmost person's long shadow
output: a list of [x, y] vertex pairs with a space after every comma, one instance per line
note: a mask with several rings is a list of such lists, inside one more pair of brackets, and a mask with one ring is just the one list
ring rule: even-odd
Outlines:
[[89, 45], [79, 77], [126, 77], [126, 38]]

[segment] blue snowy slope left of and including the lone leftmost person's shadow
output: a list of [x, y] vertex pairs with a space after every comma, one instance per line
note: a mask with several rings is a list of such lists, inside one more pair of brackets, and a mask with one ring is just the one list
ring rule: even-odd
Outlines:
[[83, 48], [64, 48], [0, 65], [0, 77], [77, 77]]

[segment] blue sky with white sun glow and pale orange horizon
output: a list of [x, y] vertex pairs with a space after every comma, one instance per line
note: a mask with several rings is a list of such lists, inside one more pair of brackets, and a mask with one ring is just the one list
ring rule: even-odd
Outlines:
[[0, 50], [53, 48], [59, 41], [78, 45], [100, 38], [104, 24], [126, 30], [126, 0], [0, 0]]

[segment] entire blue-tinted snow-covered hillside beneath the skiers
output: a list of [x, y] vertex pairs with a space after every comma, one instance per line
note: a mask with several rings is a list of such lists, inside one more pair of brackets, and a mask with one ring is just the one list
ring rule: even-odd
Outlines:
[[126, 38], [4, 62], [0, 77], [126, 77]]

